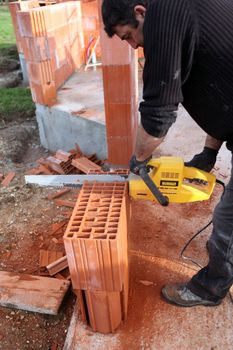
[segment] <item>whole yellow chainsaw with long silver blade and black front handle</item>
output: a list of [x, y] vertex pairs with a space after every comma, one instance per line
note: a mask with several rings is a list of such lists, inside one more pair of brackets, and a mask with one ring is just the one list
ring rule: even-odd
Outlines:
[[128, 181], [131, 198], [156, 201], [163, 206], [207, 200], [216, 183], [213, 174], [186, 167], [179, 157], [151, 159], [139, 170], [139, 175], [26, 175], [25, 182], [47, 187], [79, 187], [86, 181]]

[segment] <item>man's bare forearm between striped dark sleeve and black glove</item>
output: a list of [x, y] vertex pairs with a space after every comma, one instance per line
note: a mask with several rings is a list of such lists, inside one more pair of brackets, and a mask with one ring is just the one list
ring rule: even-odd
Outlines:
[[164, 137], [157, 138], [149, 135], [142, 124], [138, 126], [135, 157], [138, 161], [144, 161], [151, 156], [153, 151], [161, 144]]

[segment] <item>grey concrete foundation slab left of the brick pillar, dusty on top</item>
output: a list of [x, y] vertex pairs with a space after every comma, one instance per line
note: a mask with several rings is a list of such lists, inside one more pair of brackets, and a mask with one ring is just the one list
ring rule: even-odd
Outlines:
[[85, 154], [107, 158], [101, 70], [77, 72], [59, 90], [53, 107], [36, 104], [42, 146], [68, 151], [77, 143]]

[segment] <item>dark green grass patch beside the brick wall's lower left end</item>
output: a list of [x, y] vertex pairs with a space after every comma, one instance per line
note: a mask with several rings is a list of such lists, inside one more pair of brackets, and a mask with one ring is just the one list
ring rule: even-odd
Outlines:
[[0, 89], [0, 121], [30, 118], [35, 115], [35, 104], [28, 88]]

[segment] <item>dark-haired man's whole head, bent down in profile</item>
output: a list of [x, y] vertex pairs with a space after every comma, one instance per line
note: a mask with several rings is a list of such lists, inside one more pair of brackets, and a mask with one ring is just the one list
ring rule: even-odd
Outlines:
[[103, 0], [102, 18], [109, 37], [117, 35], [134, 49], [143, 46], [143, 23], [148, 0]]

